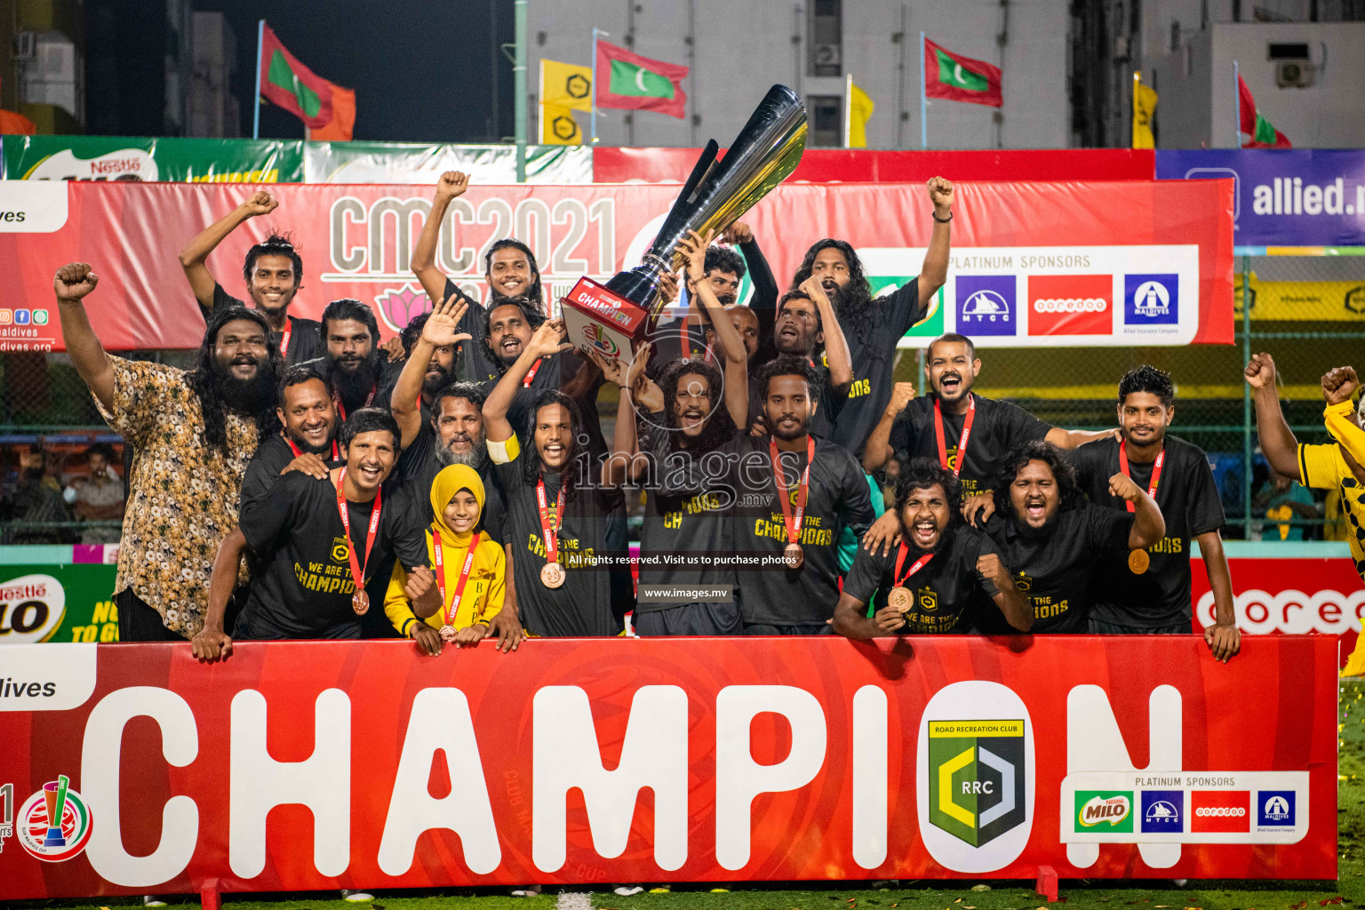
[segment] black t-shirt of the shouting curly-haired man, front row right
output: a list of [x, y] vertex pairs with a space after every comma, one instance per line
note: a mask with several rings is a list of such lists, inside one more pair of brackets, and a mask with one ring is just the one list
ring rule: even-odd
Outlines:
[[[1035, 633], [1085, 632], [1091, 613], [1091, 584], [1102, 565], [1127, 561], [1127, 536], [1134, 516], [1081, 502], [1062, 509], [1046, 536], [1021, 533], [1013, 516], [999, 512], [986, 523], [986, 533], [1001, 548], [1010, 576], [1033, 608]], [[1009, 633], [999, 610], [983, 617], [980, 632]], [[991, 622], [991, 621], [996, 622]]]

